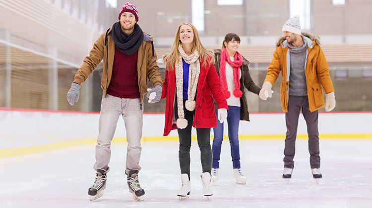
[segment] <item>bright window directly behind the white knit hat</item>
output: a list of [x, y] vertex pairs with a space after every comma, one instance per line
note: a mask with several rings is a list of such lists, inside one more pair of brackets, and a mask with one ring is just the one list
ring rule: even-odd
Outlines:
[[310, 0], [290, 0], [289, 15], [293, 17], [300, 16], [301, 30], [310, 29]]

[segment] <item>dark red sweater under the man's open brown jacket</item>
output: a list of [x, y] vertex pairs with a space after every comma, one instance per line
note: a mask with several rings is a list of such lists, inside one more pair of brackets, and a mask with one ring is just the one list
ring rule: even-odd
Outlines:
[[137, 54], [126, 55], [115, 47], [113, 73], [107, 94], [121, 98], [139, 98]]

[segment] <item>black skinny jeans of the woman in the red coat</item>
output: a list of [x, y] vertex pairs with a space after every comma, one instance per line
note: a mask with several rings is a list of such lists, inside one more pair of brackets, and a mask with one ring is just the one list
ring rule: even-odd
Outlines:
[[[184, 112], [187, 126], [184, 129], [177, 128], [180, 139], [180, 149], [178, 158], [180, 161], [181, 174], [187, 173], [190, 178], [190, 148], [191, 148], [191, 128], [194, 119], [195, 110], [189, 111], [185, 108], [186, 99], [184, 99]], [[176, 121], [178, 119], [177, 98], [174, 106]], [[203, 172], [211, 173], [212, 170], [212, 148], [210, 146], [210, 128], [196, 128], [197, 144], [200, 149], [200, 161]]]

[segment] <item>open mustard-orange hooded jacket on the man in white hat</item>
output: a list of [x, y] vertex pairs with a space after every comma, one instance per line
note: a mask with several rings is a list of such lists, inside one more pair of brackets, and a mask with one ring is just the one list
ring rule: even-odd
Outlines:
[[[325, 93], [334, 92], [333, 84], [329, 76], [328, 63], [324, 53], [320, 48], [319, 37], [309, 33], [302, 33], [308, 45], [307, 60], [305, 62], [306, 85], [308, 88], [309, 110], [316, 111], [324, 106], [323, 90]], [[284, 112], [288, 112], [288, 91], [290, 75], [290, 57], [288, 42], [284, 37], [280, 38], [276, 44], [274, 57], [267, 69], [264, 82], [274, 85], [279, 73], [282, 75], [280, 85], [280, 100]]]

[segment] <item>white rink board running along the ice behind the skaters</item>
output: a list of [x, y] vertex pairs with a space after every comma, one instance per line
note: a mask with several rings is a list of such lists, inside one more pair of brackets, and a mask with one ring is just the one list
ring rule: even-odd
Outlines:
[[[143, 137], [163, 136], [164, 114], [144, 114]], [[0, 149], [27, 147], [82, 139], [98, 135], [98, 113], [37, 110], [0, 110]], [[372, 134], [372, 112], [319, 113], [320, 134]], [[193, 129], [193, 135], [196, 135]], [[240, 123], [240, 135], [277, 135], [286, 133], [284, 113], [251, 113], [250, 122]], [[213, 135], [213, 130], [211, 131]], [[225, 134], [227, 123], [225, 122]], [[298, 134], [307, 134], [300, 115]], [[173, 130], [170, 136], [177, 136]], [[115, 138], [125, 137], [120, 117]]]

